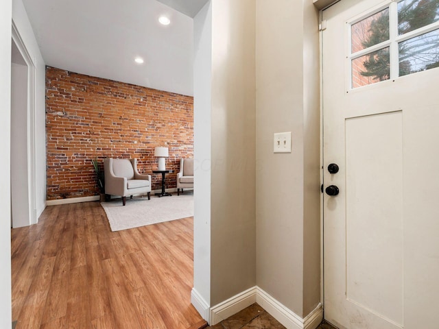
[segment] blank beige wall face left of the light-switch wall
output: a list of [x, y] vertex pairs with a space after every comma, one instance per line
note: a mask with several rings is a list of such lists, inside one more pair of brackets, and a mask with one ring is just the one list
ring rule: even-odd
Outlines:
[[212, 306], [256, 284], [255, 10], [212, 2]]

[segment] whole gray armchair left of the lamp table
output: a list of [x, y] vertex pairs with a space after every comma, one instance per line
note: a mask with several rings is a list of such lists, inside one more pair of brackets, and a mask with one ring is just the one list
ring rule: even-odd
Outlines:
[[126, 197], [145, 194], [151, 198], [151, 175], [137, 171], [137, 159], [104, 159], [105, 194], [120, 195], [125, 206]]

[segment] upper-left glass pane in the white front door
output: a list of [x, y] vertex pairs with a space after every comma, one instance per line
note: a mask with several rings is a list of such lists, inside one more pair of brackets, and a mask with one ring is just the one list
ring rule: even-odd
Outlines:
[[389, 8], [351, 26], [352, 53], [386, 40], [389, 40]]

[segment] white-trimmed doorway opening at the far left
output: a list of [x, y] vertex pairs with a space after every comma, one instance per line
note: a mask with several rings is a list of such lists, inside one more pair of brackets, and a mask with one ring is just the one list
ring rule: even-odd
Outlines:
[[11, 51], [11, 227], [36, 223], [35, 67], [12, 24]]

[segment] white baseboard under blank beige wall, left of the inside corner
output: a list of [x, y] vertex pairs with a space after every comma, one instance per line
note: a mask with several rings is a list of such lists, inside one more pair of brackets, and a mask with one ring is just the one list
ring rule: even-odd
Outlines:
[[211, 308], [211, 321], [209, 324], [215, 326], [224, 319], [238, 313], [240, 310], [254, 304], [257, 299], [257, 288], [253, 287], [235, 295], [222, 303]]

